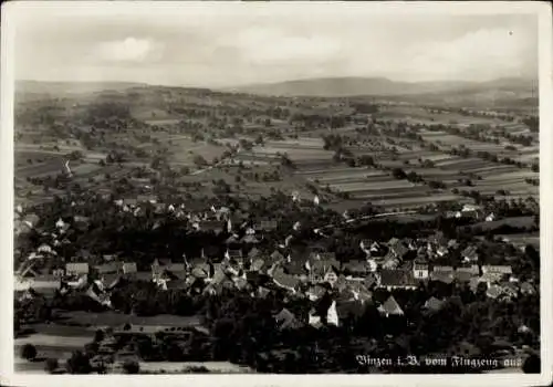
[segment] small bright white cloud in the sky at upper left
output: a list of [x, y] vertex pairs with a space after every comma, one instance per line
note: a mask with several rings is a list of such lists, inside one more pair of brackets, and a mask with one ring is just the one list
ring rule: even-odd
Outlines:
[[126, 38], [100, 43], [95, 55], [104, 62], [145, 62], [159, 59], [161, 51], [163, 45], [152, 40]]

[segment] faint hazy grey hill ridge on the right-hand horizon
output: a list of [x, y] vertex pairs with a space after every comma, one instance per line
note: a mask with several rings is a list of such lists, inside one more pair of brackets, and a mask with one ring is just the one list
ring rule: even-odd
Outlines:
[[[525, 79], [499, 79], [490, 82], [396, 82], [384, 77], [328, 77], [254, 84], [227, 88], [228, 92], [273, 96], [415, 96], [494, 94], [531, 96], [536, 82]], [[507, 93], [507, 94], [505, 94]], [[535, 92], [534, 92], [535, 94]]]

